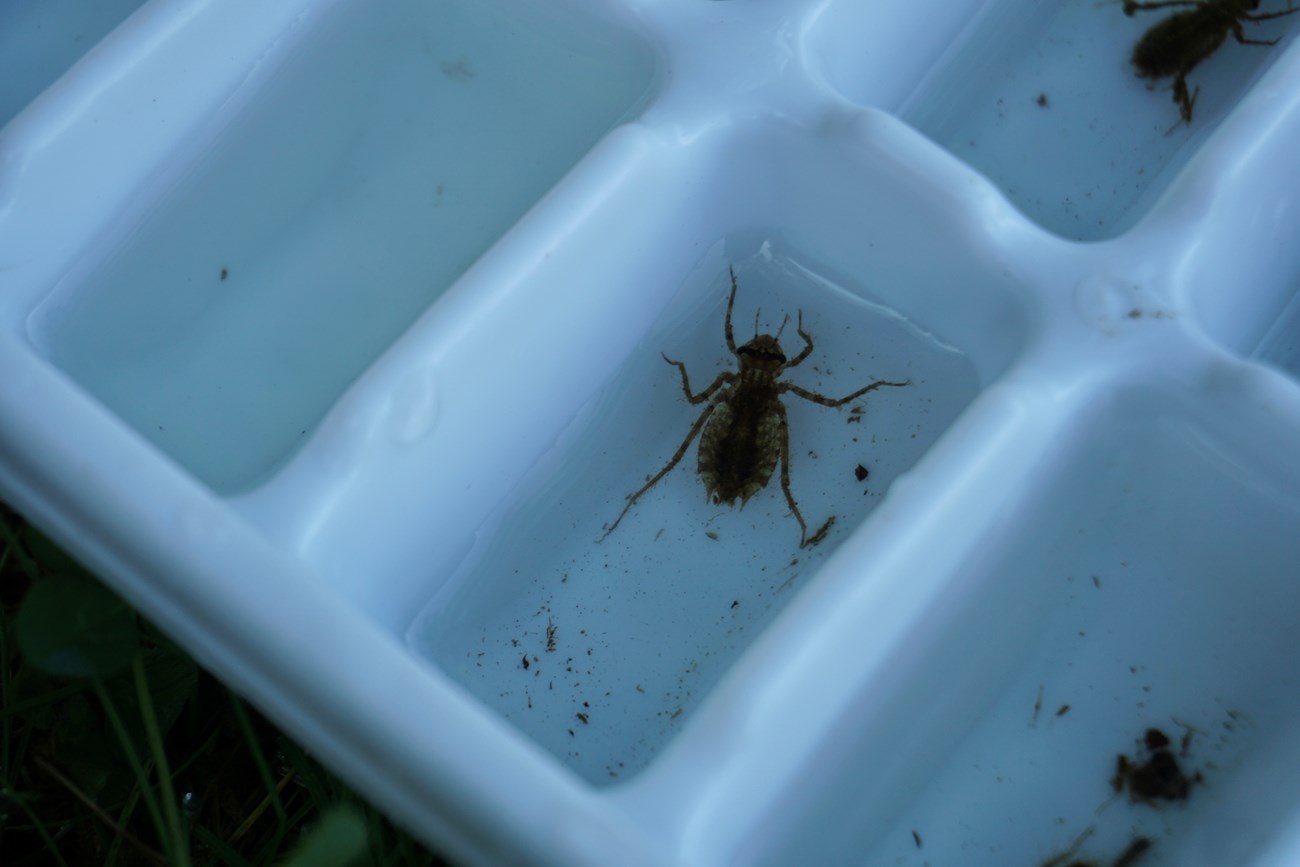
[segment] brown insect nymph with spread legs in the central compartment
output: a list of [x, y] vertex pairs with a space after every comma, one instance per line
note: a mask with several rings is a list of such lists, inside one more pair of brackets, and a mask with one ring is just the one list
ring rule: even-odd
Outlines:
[[[803, 330], [803, 313], [798, 315], [796, 330], [803, 338], [803, 348], [793, 359], [786, 360], [776, 334], [758, 334], [755, 326], [754, 338], [744, 346], [736, 346], [732, 331], [732, 309], [736, 305], [736, 272], [731, 270], [731, 296], [727, 299], [727, 317], [724, 320], [723, 334], [727, 339], [727, 348], [736, 356], [737, 370], [724, 370], [718, 374], [703, 391], [696, 394], [690, 390], [690, 377], [686, 374], [686, 365], [675, 361], [667, 355], [663, 360], [681, 372], [681, 389], [693, 406], [705, 406], [703, 411], [690, 426], [690, 432], [677, 447], [676, 454], [668, 459], [667, 465], [655, 473], [650, 480], [628, 495], [628, 502], [614, 519], [598, 541], [603, 541], [615, 530], [619, 521], [628, 513], [641, 497], [654, 487], [660, 478], [672, 472], [690, 443], [699, 437], [699, 461], [697, 472], [705, 484], [705, 493], [714, 504], [734, 506], [738, 499], [741, 507], [749, 502], [758, 491], [763, 490], [776, 464], [781, 465], [781, 493], [785, 502], [800, 523], [800, 547], [816, 545], [826, 538], [831, 525], [835, 524], [832, 515], [809, 536], [807, 524], [800, 512], [800, 506], [790, 491], [790, 432], [785, 416], [785, 404], [781, 395], [785, 393], [811, 400], [823, 407], [840, 407], [845, 403], [861, 398], [868, 391], [880, 387], [902, 387], [911, 385], [906, 382], [888, 382], [878, 380], [863, 386], [850, 395], [832, 399], [824, 395], [802, 389], [792, 382], [780, 380], [781, 373], [789, 368], [798, 367], [812, 354], [812, 338]], [[784, 326], [784, 325], [783, 325]], [[662, 355], [662, 354], [660, 354]]]

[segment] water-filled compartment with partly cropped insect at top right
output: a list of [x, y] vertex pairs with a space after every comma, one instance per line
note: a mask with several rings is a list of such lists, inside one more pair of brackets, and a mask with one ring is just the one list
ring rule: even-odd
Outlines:
[[[1066, 238], [1130, 229], [1240, 100], [1277, 51], [1223, 48], [1188, 75], [1183, 123], [1167, 79], [1134, 74], [1131, 47], [1170, 10], [1121, 4], [988, 3], [900, 107], [900, 116], [987, 174], [1032, 220]], [[1244, 22], [1280, 39], [1300, 21]]]

